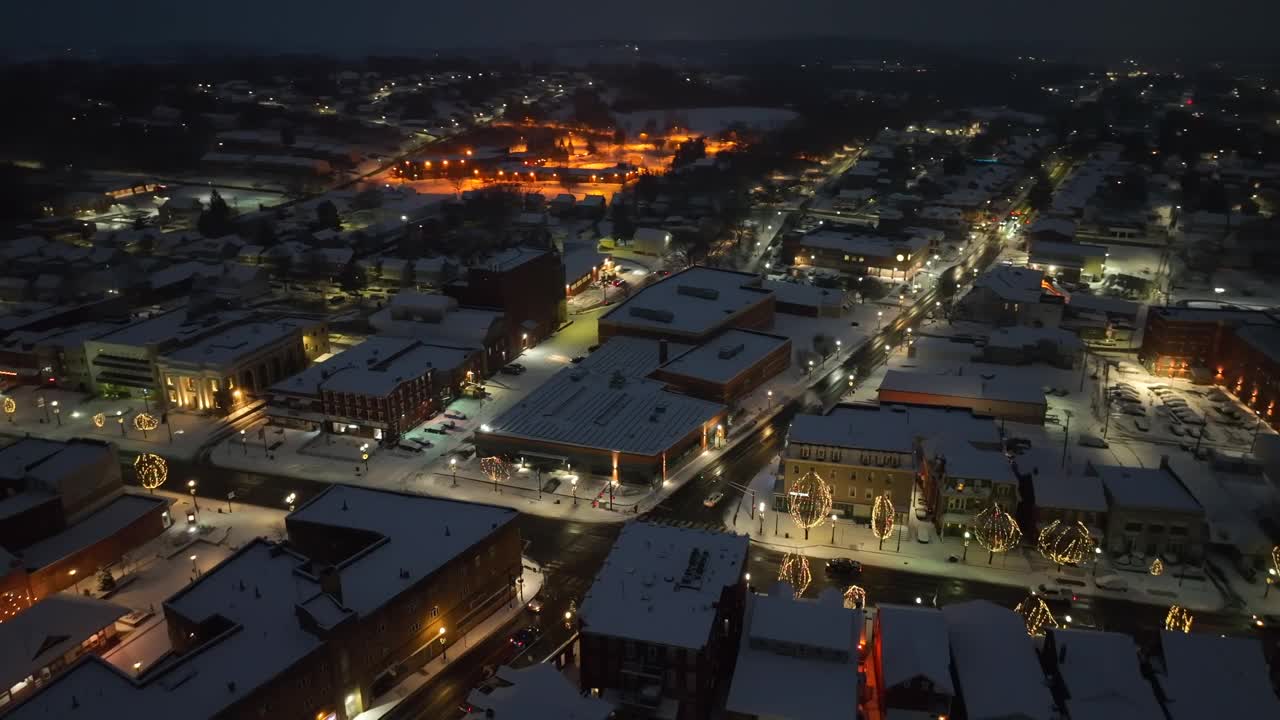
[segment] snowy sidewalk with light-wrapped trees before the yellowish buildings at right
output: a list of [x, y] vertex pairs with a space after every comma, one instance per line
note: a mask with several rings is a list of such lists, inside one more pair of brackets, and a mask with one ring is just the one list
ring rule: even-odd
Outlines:
[[[883, 546], [867, 524], [850, 519], [837, 520], [835, 533], [832, 523], [824, 521], [809, 530], [809, 539], [804, 539], [804, 529], [797, 527], [788, 514], [772, 510], [773, 473], [773, 466], [767, 468], [753, 478], [750, 484], [750, 488], [756, 493], [756, 502], [763, 501], [769, 510], [764, 514], [756, 510], [755, 518], [751, 518], [745, 501], [741, 507], [726, 506], [724, 525], [732, 532], [750, 536], [753, 543], [778, 552], [796, 552], [822, 560], [852, 557], [876, 568], [1020, 588], [1032, 588], [1039, 584], [1070, 587], [1073, 592], [1082, 596], [1126, 600], [1165, 607], [1175, 602], [1201, 611], [1219, 611], [1224, 607], [1224, 598], [1211, 580], [1188, 575], [1179, 583], [1178, 570], [1174, 568], [1157, 578], [1146, 571], [1115, 570], [1103, 560], [1102, 566], [1096, 570], [1091, 566], [1089, 569], [1064, 568], [1059, 571], [1053, 564], [1025, 546], [1018, 551], [996, 553], [995, 557], [991, 557], [977, 542], [970, 542], [966, 552], [961, 538], [940, 538], [933, 534], [931, 542], [920, 543], [916, 541], [919, 523], [915, 518], [910, 518], [906, 527], [895, 527], [893, 533], [884, 539]], [[835, 542], [832, 542], [832, 537], [835, 537]], [[1027, 538], [1024, 542], [1028, 542]], [[951, 560], [952, 557], [955, 561]], [[1115, 592], [1098, 588], [1093, 583], [1094, 571], [1098, 575], [1124, 578], [1129, 589]], [[1071, 580], [1071, 583], [1064, 585], [1059, 582], [1060, 578]], [[1083, 583], [1083, 585], [1076, 583]], [[1261, 593], [1261, 589], [1258, 592]], [[1277, 592], [1280, 588], [1276, 588], [1272, 594]]]

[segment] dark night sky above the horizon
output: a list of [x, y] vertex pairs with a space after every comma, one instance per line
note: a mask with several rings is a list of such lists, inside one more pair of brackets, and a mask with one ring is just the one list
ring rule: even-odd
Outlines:
[[[1275, 0], [5, 0], [0, 44], [280, 51], [849, 35], [1001, 53], [1265, 50]], [[1055, 53], [1056, 51], [1056, 53]]]

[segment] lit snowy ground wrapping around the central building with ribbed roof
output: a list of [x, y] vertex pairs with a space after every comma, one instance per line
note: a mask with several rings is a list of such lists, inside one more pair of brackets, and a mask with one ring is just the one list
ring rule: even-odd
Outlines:
[[[448, 414], [462, 415], [465, 419], [451, 420], [442, 414], [407, 433], [407, 445], [415, 441], [431, 443], [430, 448], [420, 454], [381, 448], [362, 438], [321, 437], [317, 432], [285, 428], [268, 429], [268, 447], [280, 443], [274, 450], [268, 450], [255, 439], [257, 428], [251, 428], [244, 436], [248, 438], [247, 442], [242, 442], [239, 436], [230, 437], [214, 448], [210, 459], [219, 466], [239, 470], [422, 492], [506, 505], [536, 515], [616, 523], [625, 519], [626, 514], [635, 514], [660, 502], [728, 448], [710, 450], [696, 456], [671, 474], [663, 487], [649, 489], [628, 484], [617, 486], [613, 489], [612, 502], [609, 478], [603, 475], [577, 475], [567, 471], [549, 474], [540, 478], [543, 487], [553, 478], [561, 482], [554, 492], [545, 492], [539, 489], [539, 477], [524, 470], [512, 473], [509, 479], [494, 488], [480, 471], [479, 457], [472, 455], [462, 459], [454, 454], [458, 448], [471, 446], [471, 436], [481, 424], [493, 420], [554, 373], [570, 366], [573, 357], [585, 355], [588, 347], [596, 342], [596, 319], [604, 310], [595, 309], [573, 315], [572, 322], [561, 332], [525, 351], [520, 363], [527, 368], [526, 373], [498, 374], [488, 379], [489, 398], [454, 401]], [[878, 313], [882, 316], [877, 318]], [[742, 398], [739, 402], [741, 414], [730, 432], [730, 447], [737, 438], [749, 434], [745, 432], [746, 428], [780, 410], [790, 398], [803, 395], [809, 386], [832, 373], [842, 373], [840, 360], [847, 357], [876, 332], [877, 319], [888, 324], [899, 313], [900, 309], [896, 306], [855, 305], [842, 318], [778, 315], [772, 332], [790, 337], [794, 350], [810, 350], [814, 336], [819, 333], [838, 340], [840, 350], [824, 363], [817, 364], [813, 372], [806, 365], [792, 361], [791, 369]], [[444, 434], [428, 432], [429, 428], [445, 429], [449, 421], [454, 428], [447, 429]], [[370, 455], [367, 464], [361, 460], [364, 452]], [[577, 478], [576, 486], [570, 482], [572, 477]]]

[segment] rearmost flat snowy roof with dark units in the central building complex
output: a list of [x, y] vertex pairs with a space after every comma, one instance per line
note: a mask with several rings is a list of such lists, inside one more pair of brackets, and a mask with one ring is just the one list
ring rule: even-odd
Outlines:
[[755, 275], [695, 266], [653, 283], [600, 316], [602, 323], [648, 333], [713, 333], [773, 293], [751, 287]]

